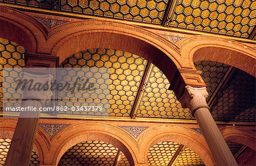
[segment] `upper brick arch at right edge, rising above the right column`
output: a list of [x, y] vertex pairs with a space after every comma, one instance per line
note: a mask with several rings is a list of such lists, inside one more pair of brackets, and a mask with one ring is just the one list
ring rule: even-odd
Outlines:
[[177, 45], [187, 68], [195, 69], [193, 62], [211, 60], [232, 65], [256, 76], [256, 50], [247, 45], [211, 36], [193, 36]]

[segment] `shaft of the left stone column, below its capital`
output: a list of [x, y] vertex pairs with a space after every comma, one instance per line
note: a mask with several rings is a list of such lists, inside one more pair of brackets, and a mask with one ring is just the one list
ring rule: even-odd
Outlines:
[[[37, 100], [23, 101], [22, 107], [27, 106], [39, 108], [42, 107], [42, 102]], [[5, 165], [28, 165], [30, 163], [39, 118], [21, 118], [23, 116], [27, 117], [24, 114], [29, 114], [31, 117], [39, 117], [38, 111], [20, 113]]]

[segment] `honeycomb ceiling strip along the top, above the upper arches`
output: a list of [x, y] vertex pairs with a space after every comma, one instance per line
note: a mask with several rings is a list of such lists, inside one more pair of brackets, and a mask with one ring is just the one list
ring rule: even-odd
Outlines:
[[51, 15], [118, 19], [166, 30], [177, 27], [177, 31], [181, 28], [195, 33], [256, 38], [256, 2], [253, 0], [0, 0], [0, 3]]

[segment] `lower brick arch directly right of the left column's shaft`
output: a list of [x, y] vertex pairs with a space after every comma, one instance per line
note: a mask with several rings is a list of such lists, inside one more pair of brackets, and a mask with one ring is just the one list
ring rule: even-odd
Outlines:
[[64, 128], [52, 138], [49, 160], [45, 162], [57, 165], [69, 148], [86, 140], [113, 144], [125, 154], [131, 165], [137, 165], [138, 143], [126, 131], [105, 123], [84, 123]]

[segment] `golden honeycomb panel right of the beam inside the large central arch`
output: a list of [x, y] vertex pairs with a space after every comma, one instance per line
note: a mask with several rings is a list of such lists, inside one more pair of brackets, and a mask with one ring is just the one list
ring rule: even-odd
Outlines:
[[170, 83], [160, 69], [153, 65], [148, 74], [150, 76], [144, 83], [146, 88], [142, 92], [137, 117], [191, 119], [189, 110], [183, 109], [174, 92], [168, 90]]

